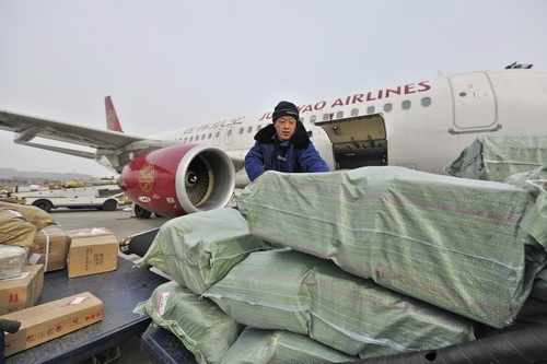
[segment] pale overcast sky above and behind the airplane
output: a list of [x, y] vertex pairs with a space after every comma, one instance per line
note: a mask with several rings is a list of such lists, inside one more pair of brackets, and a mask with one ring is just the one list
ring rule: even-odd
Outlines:
[[[0, 109], [147, 136], [444, 74], [547, 69], [545, 0], [1, 0]], [[109, 175], [15, 145], [0, 167]]]

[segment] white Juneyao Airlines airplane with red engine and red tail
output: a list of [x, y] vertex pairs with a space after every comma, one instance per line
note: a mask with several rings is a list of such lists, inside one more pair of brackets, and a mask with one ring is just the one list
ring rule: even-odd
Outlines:
[[[271, 111], [131, 136], [109, 96], [107, 130], [0, 110], [14, 142], [92, 158], [120, 174], [139, 218], [173, 218], [223, 208], [249, 184], [244, 158]], [[547, 71], [512, 63], [502, 70], [439, 74], [415, 82], [301, 103], [300, 119], [331, 171], [371, 165], [446, 174], [479, 134], [546, 134]], [[34, 138], [95, 149], [34, 142]]]

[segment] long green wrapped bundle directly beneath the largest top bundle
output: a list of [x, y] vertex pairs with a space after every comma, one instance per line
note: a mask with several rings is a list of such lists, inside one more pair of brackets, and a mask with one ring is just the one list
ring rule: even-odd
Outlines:
[[291, 249], [257, 251], [205, 294], [240, 324], [372, 357], [474, 340], [472, 320]]

